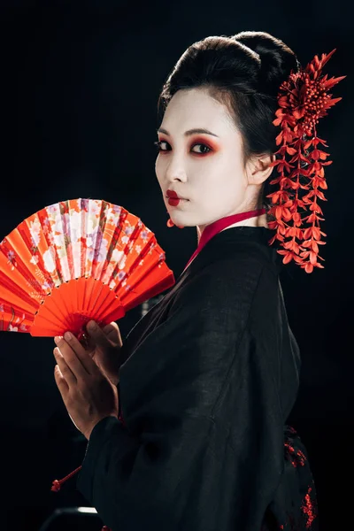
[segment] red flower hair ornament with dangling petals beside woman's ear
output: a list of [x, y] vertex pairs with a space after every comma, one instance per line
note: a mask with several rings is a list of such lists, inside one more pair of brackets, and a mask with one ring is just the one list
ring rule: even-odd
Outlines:
[[[323, 269], [319, 245], [325, 245], [321, 236], [326, 235], [319, 228], [319, 221], [324, 218], [319, 217], [322, 210], [318, 200], [327, 201], [321, 190], [327, 189], [324, 166], [332, 161], [327, 160], [329, 153], [319, 149], [319, 144], [328, 146], [317, 135], [316, 126], [320, 118], [327, 116], [327, 109], [342, 99], [333, 98], [328, 91], [347, 76], [328, 80], [327, 74], [322, 75], [323, 66], [335, 50], [323, 53], [320, 59], [315, 55], [297, 73], [291, 71], [288, 80], [281, 83], [277, 118], [273, 120], [274, 126], [281, 127], [276, 137], [276, 145], [281, 148], [274, 153], [279, 158], [271, 164], [278, 167], [279, 175], [270, 184], [278, 186], [267, 196], [272, 198], [267, 213], [274, 219], [268, 227], [276, 231], [269, 245], [275, 240], [281, 242], [282, 249], [277, 252], [284, 255], [282, 262], [289, 264], [294, 260], [306, 273], [312, 273], [314, 267]], [[167, 227], [173, 225], [168, 219]]]

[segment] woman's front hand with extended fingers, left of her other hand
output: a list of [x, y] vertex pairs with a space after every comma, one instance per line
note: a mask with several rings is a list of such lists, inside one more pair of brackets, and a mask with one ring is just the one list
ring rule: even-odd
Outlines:
[[73, 424], [89, 440], [105, 417], [119, 413], [118, 389], [104, 375], [81, 343], [71, 334], [56, 337], [54, 378]]

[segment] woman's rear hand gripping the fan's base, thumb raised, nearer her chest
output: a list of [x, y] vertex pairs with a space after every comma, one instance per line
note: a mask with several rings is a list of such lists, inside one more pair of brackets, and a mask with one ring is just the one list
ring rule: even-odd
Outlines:
[[[93, 325], [91, 327], [90, 325]], [[119, 326], [112, 321], [101, 328], [93, 320], [87, 327], [87, 342], [84, 345], [96, 365], [107, 375], [114, 385], [119, 382], [119, 352], [122, 347]]]

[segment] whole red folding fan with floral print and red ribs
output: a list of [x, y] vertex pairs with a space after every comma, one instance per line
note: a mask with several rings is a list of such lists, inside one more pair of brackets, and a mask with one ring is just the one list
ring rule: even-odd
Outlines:
[[0, 242], [0, 330], [81, 339], [175, 283], [142, 220], [98, 199], [51, 204]]

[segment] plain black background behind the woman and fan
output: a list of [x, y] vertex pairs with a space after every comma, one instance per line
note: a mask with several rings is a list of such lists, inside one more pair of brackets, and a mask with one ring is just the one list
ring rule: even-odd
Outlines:
[[[318, 128], [334, 161], [326, 168], [327, 202], [321, 203], [325, 269], [309, 275], [291, 264], [281, 281], [303, 358], [289, 420], [309, 450], [319, 528], [351, 528], [351, 489], [343, 483], [353, 473], [353, 24], [344, 4], [47, 0], [0, 5], [0, 240], [48, 204], [105, 199], [150, 227], [176, 278], [196, 248], [196, 229], [165, 225], [153, 142], [158, 94], [181, 53], [207, 35], [242, 30], [281, 38], [303, 65], [336, 48], [325, 72], [347, 75], [332, 90], [342, 101]], [[123, 336], [141, 312], [135, 308], [119, 321]], [[51, 481], [81, 465], [86, 448], [54, 381], [53, 347], [51, 338], [0, 334], [1, 530], [36, 531], [56, 508], [88, 505], [74, 478], [58, 494], [50, 492]], [[70, 519], [60, 528], [70, 526], [78, 529]], [[100, 526], [95, 522], [92, 528]]]

